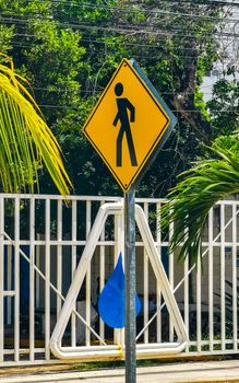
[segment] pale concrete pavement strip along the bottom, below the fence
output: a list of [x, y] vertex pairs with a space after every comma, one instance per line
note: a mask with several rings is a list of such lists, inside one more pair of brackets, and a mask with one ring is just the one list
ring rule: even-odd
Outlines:
[[[48, 371], [50, 368], [48, 369]], [[35, 369], [36, 371], [36, 369]], [[124, 383], [123, 369], [4, 375], [0, 383]], [[239, 383], [239, 360], [163, 363], [138, 368], [138, 383]]]

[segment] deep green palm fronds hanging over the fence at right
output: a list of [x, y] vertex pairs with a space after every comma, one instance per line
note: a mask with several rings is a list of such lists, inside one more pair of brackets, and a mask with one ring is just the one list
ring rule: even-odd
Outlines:
[[169, 251], [180, 246], [179, 259], [189, 255], [192, 264], [198, 260], [210, 209], [218, 200], [239, 193], [238, 150], [219, 146], [211, 150], [217, 159], [198, 162], [182, 173], [184, 179], [171, 189], [162, 213], [163, 230], [174, 222]]

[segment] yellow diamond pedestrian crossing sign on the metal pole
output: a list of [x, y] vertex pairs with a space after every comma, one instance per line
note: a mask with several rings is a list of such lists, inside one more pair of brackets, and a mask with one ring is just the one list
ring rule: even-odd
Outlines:
[[83, 128], [123, 192], [175, 125], [170, 109], [134, 66], [122, 60]]

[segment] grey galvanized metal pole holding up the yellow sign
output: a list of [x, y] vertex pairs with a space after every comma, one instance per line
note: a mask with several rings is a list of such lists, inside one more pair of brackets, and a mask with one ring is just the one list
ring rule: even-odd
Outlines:
[[126, 383], [136, 382], [134, 188], [124, 194]]

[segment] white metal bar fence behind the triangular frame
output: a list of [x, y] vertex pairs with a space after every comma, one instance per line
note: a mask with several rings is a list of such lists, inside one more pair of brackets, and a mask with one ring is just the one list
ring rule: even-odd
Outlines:
[[[56, 362], [50, 335], [95, 216], [100, 205], [119, 200], [70, 197], [65, 204], [60, 196], [0, 195], [0, 365]], [[138, 204], [150, 222], [189, 333], [183, 355], [237, 353], [239, 201], [222, 201], [211, 210], [203, 236], [203, 265], [198, 268], [188, 259], [178, 264], [177, 254], [168, 256], [168, 242], [159, 231], [164, 200], [138, 199]], [[93, 349], [123, 344], [123, 330], [106, 326], [97, 313], [99, 292], [122, 243], [122, 217], [111, 217], [97, 242], [74, 305], [79, 314], [71, 315], [63, 346]], [[174, 341], [174, 326], [140, 233], [136, 290], [142, 302], [138, 344], [150, 347]]]

